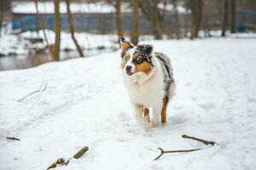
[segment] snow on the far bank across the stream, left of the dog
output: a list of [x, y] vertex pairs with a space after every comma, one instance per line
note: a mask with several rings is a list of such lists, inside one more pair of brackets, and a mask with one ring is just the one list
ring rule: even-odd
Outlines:
[[[54, 31], [46, 30], [46, 35], [49, 44], [54, 44]], [[80, 47], [85, 51], [86, 56], [98, 54], [102, 51], [111, 51], [117, 49], [118, 37], [115, 35], [100, 35], [86, 32], [76, 32], [75, 37], [79, 42]], [[44, 39], [44, 32], [40, 31], [26, 31], [15, 34], [3, 34], [0, 38], [0, 56], [8, 55], [26, 55], [33, 53], [35, 49], [42, 49], [46, 47], [46, 42], [31, 43], [29, 39]], [[71, 34], [66, 31], [61, 31], [61, 51], [72, 50], [76, 51]], [[63, 56], [62, 56], [63, 57]], [[65, 58], [65, 57], [63, 57]]]

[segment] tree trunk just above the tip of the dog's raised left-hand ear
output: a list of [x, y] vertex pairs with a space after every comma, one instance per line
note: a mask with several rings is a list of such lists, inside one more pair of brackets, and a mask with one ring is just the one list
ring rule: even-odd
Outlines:
[[115, 0], [115, 23], [117, 28], [117, 33], [119, 38], [123, 37], [123, 23], [122, 23], [122, 15], [121, 15], [121, 0]]

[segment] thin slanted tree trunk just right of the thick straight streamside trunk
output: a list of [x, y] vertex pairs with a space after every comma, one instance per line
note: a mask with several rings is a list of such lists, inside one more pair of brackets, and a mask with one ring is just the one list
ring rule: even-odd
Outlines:
[[69, 31], [71, 33], [71, 37], [73, 39], [73, 42], [78, 49], [80, 57], [84, 57], [83, 51], [79, 46], [79, 42], [77, 41], [76, 37], [74, 36], [74, 29], [75, 29], [75, 22], [73, 20], [73, 15], [71, 14], [70, 11], [70, 0], [65, 0], [67, 4], [67, 17], [68, 17], [68, 23], [69, 23]]

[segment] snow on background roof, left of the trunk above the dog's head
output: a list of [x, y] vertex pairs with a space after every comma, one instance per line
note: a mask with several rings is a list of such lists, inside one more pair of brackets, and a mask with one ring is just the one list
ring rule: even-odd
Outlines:
[[[13, 13], [24, 14], [36, 14], [35, 3], [33, 2], [15, 2], [13, 4]], [[115, 8], [113, 5], [98, 2], [98, 3], [71, 3], [70, 10], [72, 13], [114, 13]], [[123, 3], [121, 7], [122, 12], [131, 12], [128, 3]], [[39, 13], [53, 14], [54, 3], [53, 2], [38, 2]], [[60, 13], [67, 13], [67, 6], [65, 2], [60, 3]]]

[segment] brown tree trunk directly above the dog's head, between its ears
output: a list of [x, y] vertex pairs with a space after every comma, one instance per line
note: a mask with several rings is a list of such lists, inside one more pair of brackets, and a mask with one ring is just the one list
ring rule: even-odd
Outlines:
[[137, 45], [139, 37], [139, 10], [138, 10], [138, 1], [132, 1], [132, 10], [133, 10], [133, 29], [131, 34], [131, 42]]

